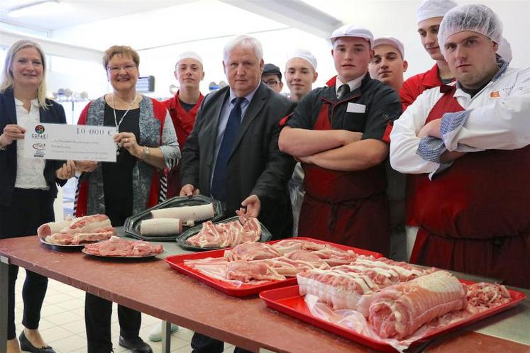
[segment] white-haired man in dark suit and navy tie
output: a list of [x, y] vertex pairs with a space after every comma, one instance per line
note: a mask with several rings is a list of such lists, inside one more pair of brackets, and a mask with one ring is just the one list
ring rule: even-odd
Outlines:
[[239, 36], [223, 51], [229, 86], [206, 96], [182, 152], [181, 196], [204, 194], [223, 203], [225, 215], [242, 206], [273, 239], [292, 236], [287, 182], [294, 159], [280, 152], [280, 121], [295, 103], [261, 82], [263, 50]]

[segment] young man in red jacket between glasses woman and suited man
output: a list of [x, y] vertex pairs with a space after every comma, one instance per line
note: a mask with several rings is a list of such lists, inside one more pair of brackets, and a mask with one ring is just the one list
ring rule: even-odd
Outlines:
[[[175, 65], [175, 78], [179, 82], [179, 90], [164, 103], [170, 111], [177, 140], [183, 150], [204, 98], [199, 90], [199, 84], [204, 79], [201, 57], [196, 52], [183, 52], [179, 55]], [[178, 196], [181, 187], [180, 166], [177, 166], [167, 176], [167, 198]]]

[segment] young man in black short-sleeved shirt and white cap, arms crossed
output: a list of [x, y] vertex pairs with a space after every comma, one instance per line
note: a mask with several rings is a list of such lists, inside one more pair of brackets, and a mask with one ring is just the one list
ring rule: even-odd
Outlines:
[[399, 97], [370, 79], [370, 30], [346, 25], [331, 41], [338, 75], [307, 94], [280, 133], [280, 150], [305, 173], [298, 233], [388, 254], [385, 131], [401, 113]]

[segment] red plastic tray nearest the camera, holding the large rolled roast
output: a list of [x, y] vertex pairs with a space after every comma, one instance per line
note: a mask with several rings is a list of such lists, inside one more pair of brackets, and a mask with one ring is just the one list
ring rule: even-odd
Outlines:
[[[465, 281], [463, 279], [460, 279], [460, 282], [465, 284], [475, 283], [472, 281]], [[482, 313], [477, 313], [471, 316], [470, 318], [458, 321], [456, 323], [452, 323], [451, 325], [448, 325], [446, 327], [441, 327], [440, 329], [429, 333], [429, 335], [422, 337], [421, 340], [413, 342], [411, 344], [411, 347], [414, 347], [415, 345], [421, 342], [431, 340], [434, 337], [438, 337], [446, 332], [457, 330], [458, 328], [463, 327], [465, 325], [469, 325], [470, 323], [475, 323], [478, 320], [482, 320], [483, 318], [487, 318], [488, 316], [507, 310], [508, 308], [512, 308], [512, 306], [517, 305], [517, 303], [523, 301], [524, 298], [526, 298], [526, 295], [519, 291], [508, 291], [510, 293], [510, 296], [512, 296], [512, 301], [509, 301], [509, 303], [505, 303], [502, 306], [497, 306], [497, 308], [482, 311]], [[304, 301], [304, 297], [300, 296], [299, 294], [298, 285], [272, 289], [270, 291], [263, 291], [260, 293], [260, 298], [262, 298], [267, 304], [267, 306], [270, 308], [274, 308], [282, 313], [286, 313], [287, 315], [299, 318], [302, 321], [311, 323], [316, 327], [320, 327], [324, 330], [333, 332], [336, 335], [346, 337], [349, 340], [353, 340], [355, 342], [364, 344], [365, 346], [380, 350], [382, 352], [396, 352], [396, 350], [390, 344], [374, 340], [372, 337], [361, 335], [357, 332], [353, 332], [344, 327], [329, 323], [311, 315], [311, 312], [309, 311], [309, 308], [307, 308], [306, 302]]]

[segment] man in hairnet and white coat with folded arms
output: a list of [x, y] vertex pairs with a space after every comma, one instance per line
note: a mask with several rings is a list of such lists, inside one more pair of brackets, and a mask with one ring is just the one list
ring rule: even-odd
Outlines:
[[530, 69], [497, 62], [501, 39], [487, 6], [446, 13], [438, 43], [457, 82], [394, 122], [390, 162], [418, 175], [411, 262], [530, 288]]

